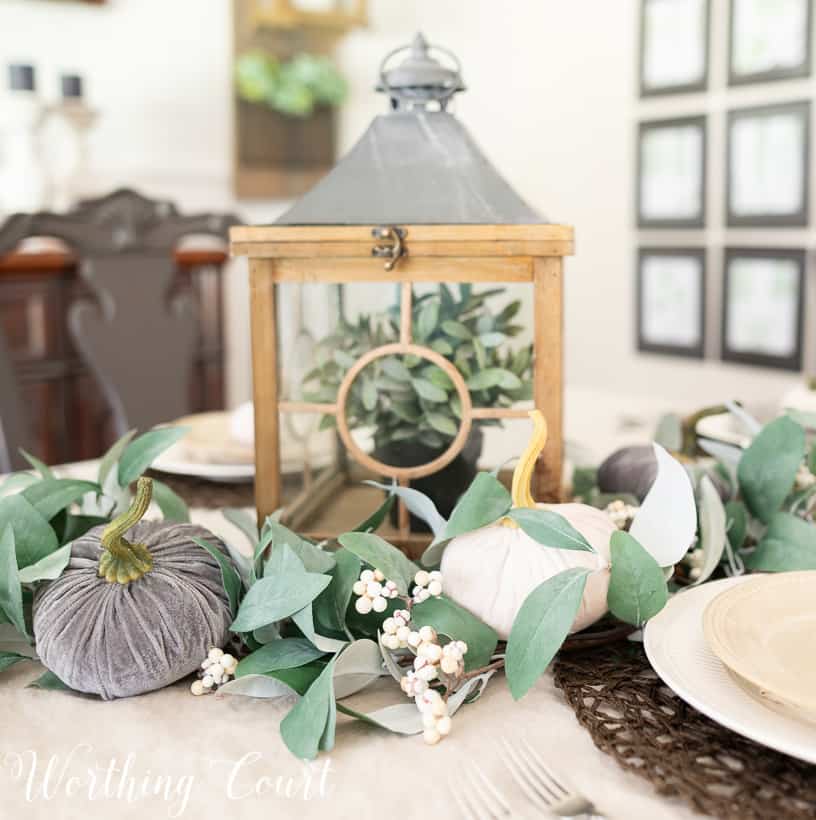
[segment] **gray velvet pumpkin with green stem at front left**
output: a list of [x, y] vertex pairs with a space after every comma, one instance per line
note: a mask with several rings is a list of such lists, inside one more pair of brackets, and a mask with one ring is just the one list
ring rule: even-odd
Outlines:
[[[192, 539], [225, 552], [223, 544], [192, 524], [140, 522], [150, 502], [149, 481], [140, 479], [129, 513], [74, 541], [63, 574], [34, 599], [42, 662], [72, 689], [105, 700], [189, 675], [229, 636], [221, 568]], [[112, 537], [118, 538], [113, 546]]]

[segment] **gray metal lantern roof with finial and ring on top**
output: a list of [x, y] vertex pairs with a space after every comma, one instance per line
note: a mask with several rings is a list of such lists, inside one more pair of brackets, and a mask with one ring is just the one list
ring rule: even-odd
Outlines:
[[[389, 60], [408, 50], [394, 68]], [[454, 68], [431, 56], [446, 54]], [[388, 54], [378, 91], [391, 112], [374, 119], [349, 153], [277, 220], [279, 225], [517, 225], [542, 219], [447, 109], [464, 90], [459, 61], [417, 34]]]

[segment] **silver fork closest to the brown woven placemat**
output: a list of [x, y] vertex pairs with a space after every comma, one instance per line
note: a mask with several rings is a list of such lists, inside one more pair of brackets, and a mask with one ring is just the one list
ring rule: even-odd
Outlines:
[[558, 817], [606, 820], [586, 797], [567, 789], [526, 740], [514, 748], [502, 739], [502, 745], [505, 766], [533, 805]]

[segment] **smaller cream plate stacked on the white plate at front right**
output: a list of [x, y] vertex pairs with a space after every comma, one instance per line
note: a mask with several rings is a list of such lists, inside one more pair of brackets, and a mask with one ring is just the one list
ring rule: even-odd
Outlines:
[[816, 572], [758, 575], [703, 614], [711, 651], [767, 706], [816, 722]]

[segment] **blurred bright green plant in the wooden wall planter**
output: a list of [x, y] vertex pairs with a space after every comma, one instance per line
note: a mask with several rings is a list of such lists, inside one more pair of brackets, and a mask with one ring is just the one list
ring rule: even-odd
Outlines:
[[346, 98], [346, 81], [328, 57], [298, 54], [281, 62], [251, 51], [235, 62], [240, 99], [265, 105], [287, 117], [308, 117], [319, 106], [336, 107]]

